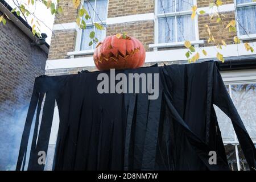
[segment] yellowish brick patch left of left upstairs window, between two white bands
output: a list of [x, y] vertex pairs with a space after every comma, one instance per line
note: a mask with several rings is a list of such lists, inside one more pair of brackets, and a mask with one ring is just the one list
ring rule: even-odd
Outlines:
[[57, 30], [53, 34], [48, 60], [68, 58], [67, 52], [75, 50], [76, 30]]

